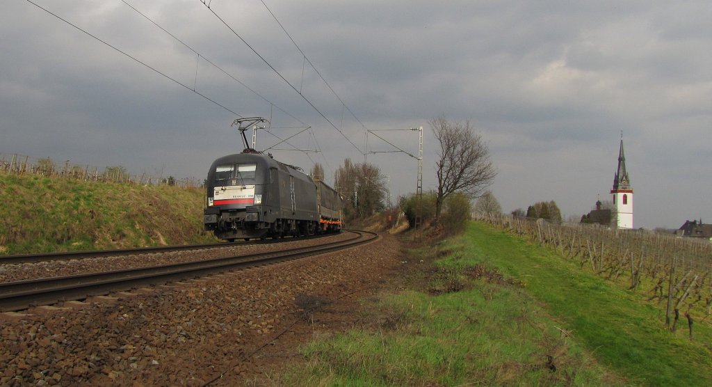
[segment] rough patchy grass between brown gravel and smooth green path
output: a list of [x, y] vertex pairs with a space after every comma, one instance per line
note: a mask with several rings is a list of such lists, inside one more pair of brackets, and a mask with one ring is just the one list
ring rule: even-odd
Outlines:
[[[366, 306], [362, 317], [372, 324], [309, 344], [307, 366], [293, 368], [283, 381], [322, 386], [627, 383], [562, 334], [562, 322], [520, 283], [483, 271], [467, 242], [459, 244], [433, 269], [415, 274], [411, 289]], [[418, 262], [432, 249], [410, 254], [408, 260]]]

